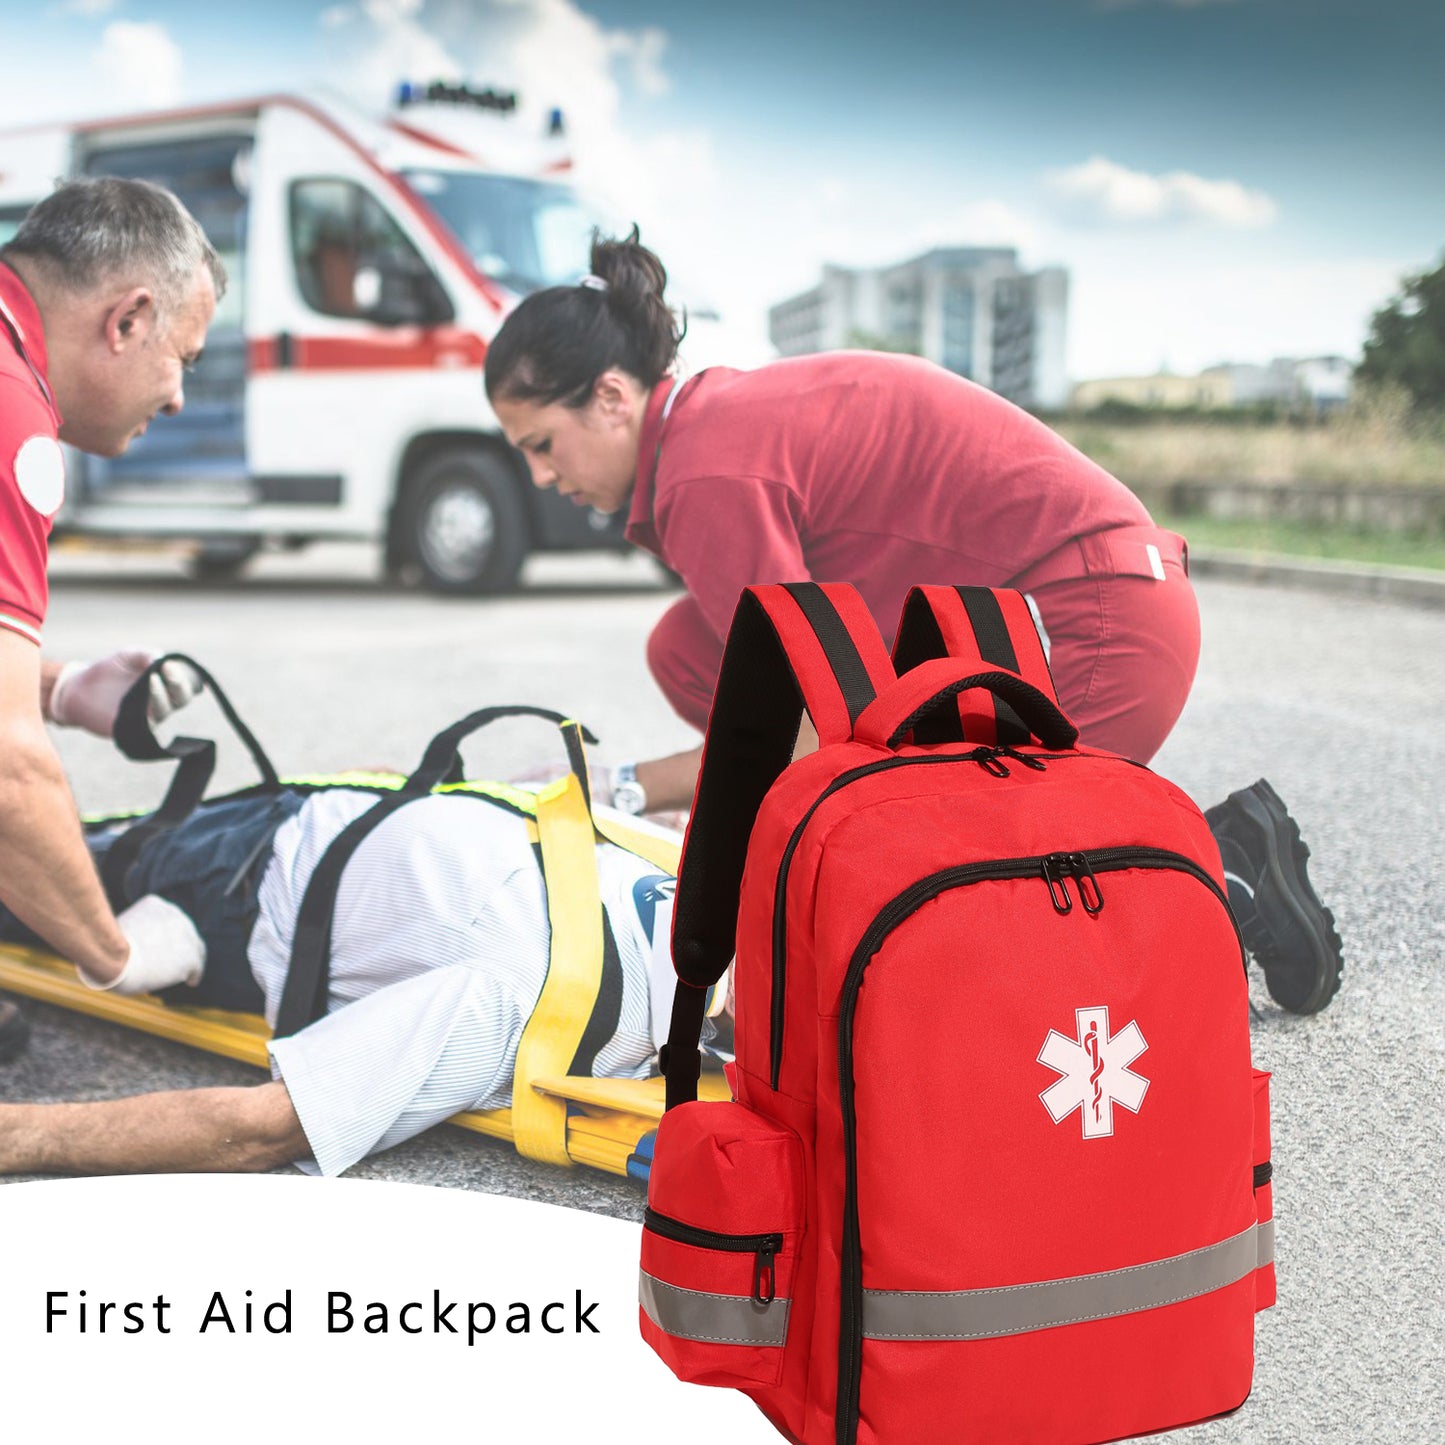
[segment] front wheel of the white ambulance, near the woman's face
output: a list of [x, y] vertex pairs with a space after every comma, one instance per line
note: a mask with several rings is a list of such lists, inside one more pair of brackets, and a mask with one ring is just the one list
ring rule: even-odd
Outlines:
[[506, 592], [532, 545], [517, 478], [484, 451], [445, 451], [412, 477], [399, 540], [436, 592]]

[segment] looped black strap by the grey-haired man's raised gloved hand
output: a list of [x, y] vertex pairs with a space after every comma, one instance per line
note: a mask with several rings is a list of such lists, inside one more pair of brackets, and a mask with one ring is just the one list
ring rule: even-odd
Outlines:
[[160, 801], [160, 806], [140, 822], [127, 828], [110, 845], [105, 857], [101, 860], [101, 883], [105, 886], [105, 894], [110, 899], [111, 907], [117, 910], [134, 902], [130, 896], [129, 876], [142, 850], [152, 838], [169, 832], [195, 812], [205, 798], [205, 790], [215, 772], [215, 743], [211, 738], [178, 736], [169, 743], [162, 743], [150, 725], [150, 679], [168, 662], [179, 662], [191, 668], [204, 686], [210, 689], [221, 714], [251, 754], [251, 760], [262, 775], [260, 790], [276, 792], [280, 789], [280, 779], [276, 776], [276, 769], [266, 756], [266, 750], [241, 721], [240, 714], [231, 707], [231, 699], [221, 691], [215, 678], [201, 663], [185, 653], [171, 652], [163, 657], [158, 657], [136, 678], [120, 699], [120, 708], [116, 712], [114, 738], [116, 746], [126, 757], [142, 763], [171, 760], [176, 763], [176, 770], [165, 798]]

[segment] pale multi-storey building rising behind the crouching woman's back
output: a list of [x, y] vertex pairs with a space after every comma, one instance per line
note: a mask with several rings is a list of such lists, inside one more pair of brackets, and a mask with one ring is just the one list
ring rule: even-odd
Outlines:
[[949, 246], [877, 269], [825, 266], [769, 311], [785, 357], [844, 347], [910, 351], [1039, 409], [1068, 400], [1068, 272], [1025, 272], [1012, 247]]

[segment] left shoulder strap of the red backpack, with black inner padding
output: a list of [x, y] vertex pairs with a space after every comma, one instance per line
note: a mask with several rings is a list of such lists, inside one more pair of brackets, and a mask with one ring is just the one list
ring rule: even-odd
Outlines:
[[842, 584], [749, 587], [738, 598], [708, 718], [682, 845], [672, 958], [679, 987], [663, 1049], [668, 1107], [695, 1097], [707, 990], [737, 938], [747, 842], [767, 790], [792, 760], [803, 711], [819, 747], [847, 741], [894, 681], [877, 623]]

